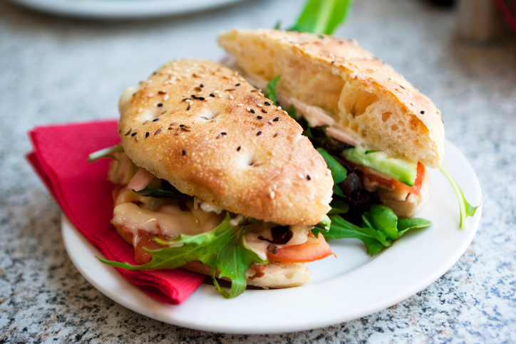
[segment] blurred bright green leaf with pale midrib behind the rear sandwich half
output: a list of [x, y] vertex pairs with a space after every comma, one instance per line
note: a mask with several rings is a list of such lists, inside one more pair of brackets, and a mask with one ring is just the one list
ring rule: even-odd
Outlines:
[[331, 35], [351, 12], [353, 0], [308, 0], [291, 31]]

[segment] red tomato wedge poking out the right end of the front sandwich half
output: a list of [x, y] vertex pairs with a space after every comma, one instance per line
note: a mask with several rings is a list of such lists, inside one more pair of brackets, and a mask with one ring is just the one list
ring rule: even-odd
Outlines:
[[317, 239], [311, 235], [306, 243], [301, 245], [285, 246], [281, 249], [267, 252], [267, 257], [272, 261], [284, 261], [286, 263], [307, 263], [318, 261], [334, 254], [330, 246], [324, 240], [324, 236], [319, 233]]

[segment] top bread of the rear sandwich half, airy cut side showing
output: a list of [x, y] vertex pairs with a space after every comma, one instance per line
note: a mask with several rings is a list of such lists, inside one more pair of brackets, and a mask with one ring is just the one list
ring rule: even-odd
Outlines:
[[222, 33], [222, 48], [249, 75], [320, 108], [361, 145], [439, 167], [444, 156], [440, 111], [391, 66], [354, 41], [269, 29]]

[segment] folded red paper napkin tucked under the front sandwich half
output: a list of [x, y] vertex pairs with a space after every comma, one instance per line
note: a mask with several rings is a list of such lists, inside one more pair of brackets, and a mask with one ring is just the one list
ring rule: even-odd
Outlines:
[[[29, 132], [34, 152], [27, 159], [78, 231], [106, 259], [135, 264], [133, 246], [110, 224], [113, 185], [108, 159], [88, 163], [91, 152], [117, 145], [116, 120], [50, 125]], [[204, 276], [178, 269], [118, 272], [144, 293], [165, 303], [182, 303]]]

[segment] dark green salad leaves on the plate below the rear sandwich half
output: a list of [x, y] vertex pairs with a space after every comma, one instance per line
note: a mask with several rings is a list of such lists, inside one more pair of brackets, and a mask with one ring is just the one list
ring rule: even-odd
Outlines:
[[[333, 210], [333, 209], [332, 209]], [[356, 226], [339, 215], [331, 215], [330, 230], [323, 233], [324, 239], [360, 239], [366, 245], [367, 253], [378, 253], [384, 247], [399, 239], [411, 229], [420, 229], [430, 226], [430, 221], [416, 218], [400, 218], [391, 208], [381, 204], [373, 204], [367, 212], [362, 214], [363, 225]], [[319, 229], [312, 229], [315, 236]]]

